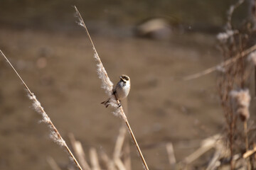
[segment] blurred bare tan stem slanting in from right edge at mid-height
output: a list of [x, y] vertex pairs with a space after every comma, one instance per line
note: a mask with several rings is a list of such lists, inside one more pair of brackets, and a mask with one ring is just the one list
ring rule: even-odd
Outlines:
[[191, 79], [196, 79], [198, 77], [202, 77], [206, 74], [210, 74], [211, 72], [216, 71], [220, 67], [225, 67], [228, 66], [228, 64], [233, 64], [234, 62], [237, 62], [240, 58], [245, 57], [250, 54], [250, 52], [253, 52], [256, 50], [256, 45], [253, 45], [252, 47], [248, 48], [247, 50], [244, 50], [238, 55], [235, 55], [235, 57], [230, 58], [228, 60], [225, 60], [225, 62], [221, 62], [218, 65], [215, 65], [214, 67], [210, 67], [208, 69], [203, 70], [203, 72], [198, 72], [196, 74], [192, 74], [186, 77], [181, 78], [183, 81], [191, 80]]

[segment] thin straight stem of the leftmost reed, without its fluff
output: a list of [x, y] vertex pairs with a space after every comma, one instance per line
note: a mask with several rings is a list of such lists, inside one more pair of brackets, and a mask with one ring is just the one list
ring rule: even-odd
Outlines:
[[[6, 59], [6, 61], [10, 64], [11, 68], [14, 70], [14, 72], [16, 73], [16, 75], [18, 76], [18, 78], [22, 81], [22, 84], [25, 86], [25, 88], [26, 88], [26, 90], [28, 91], [29, 95], [30, 95], [31, 97], [33, 97], [34, 94], [30, 91], [30, 89], [28, 89], [28, 86], [27, 86], [26, 83], [23, 81], [23, 79], [21, 78], [21, 76], [18, 74], [18, 72], [16, 71], [16, 69], [14, 68], [14, 66], [11, 64], [11, 62], [9, 62], [9, 60], [7, 59], [7, 57], [4, 55], [4, 53], [3, 53], [1, 50], [0, 50], [0, 52], [1, 52], [1, 55], [3, 55], [4, 58]], [[33, 97], [32, 100], [33, 100], [34, 103], [38, 103], [38, 100], [37, 100], [35, 97]], [[42, 107], [41, 105], [39, 106], [39, 109], [40, 109], [41, 113], [44, 113], [45, 115], [47, 115], [47, 114], [46, 114], [46, 111], [44, 111], [44, 109], [43, 109], [43, 107]], [[47, 117], [48, 117], [48, 115], [47, 115]], [[49, 117], [48, 117], [48, 122], [47, 122], [47, 123], [48, 123], [48, 125], [50, 126], [50, 128], [53, 129], [54, 132], [58, 135], [58, 139], [59, 139], [60, 141], [63, 141], [63, 146], [64, 146], [65, 149], [68, 151], [68, 154], [69, 154], [70, 157], [73, 159], [73, 161], [75, 162], [76, 166], [78, 166], [78, 168], [79, 168], [80, 170], [82, 170], [80, 164], [79, 164], [78, 161], [75, 159], [75, 156], [74, 156], [73, 153], [70, 151], [68, 145], [65, 143], [65, 140], [63, 140], [63, 137], [61, 137], [60, 133], [58, 132], [57, 128], [55, 128], [55, 125], [53, 125], [53, 122], [50, 120]]]

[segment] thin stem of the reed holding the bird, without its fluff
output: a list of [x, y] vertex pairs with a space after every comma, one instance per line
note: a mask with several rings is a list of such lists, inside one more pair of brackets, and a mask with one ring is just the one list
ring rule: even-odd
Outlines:
[[[74, 7], [75, 7], [75, 6], [74, 6]], [[85, 28], [85, 31], [86, 31], [86, 33], [87, 33], [89, 39], [90, 39], [90, 42], [91, 42], [91, 44], [92, 44], [92, 49], [93, 49], [94, 52], [95, 52], [95, 60], [98, 62], [98, 64], [100, 64], [100, 66], [102, 67], [102, 69], [104, 69], [103, 64], [102, 64], [102, 62], [101, 62], [101, 60], [100, 60], [100, 57], [99, 57], [99, 55], [97, 54], [97, 50], [96, 50], [96, 48], [95, 48], [95, 45], [94, 45], [94, 43], [92, 42], [92, 38], [90, 37], [90, 33], [89, 33], [89, 31], [87, 30], [87, 27], [85, 26], [85, 22], [83, 21], [82, 16], [80, 15], [80, 12], [78, 11], [78, 8], [75, 7], [75, 11], [76, 11], [76, 13], [78, 13], [78, 17], [79, 17], [79, 19], [80, 19], [80, 25], [81, 25], [83, 28]], [[104, 81], [106, 81], [106, 79], [110, 80], [110, 78], [107, 76], [107, 72], [105, 71], [105, 69], [104, 69], [103, 72], [104, 72], [104, 74], [105, 74], [105, 79], [102, 79], [102, 81], [104, 82]], [[119, 103], [118, 100], [117, 100], [117, 103]], [[124, 113], [124, 110], [122, 109], [122, 106], [121, 106], [120, 108], [117, 108], [117, 109], [119, 109], [119, 113], [120, 113], [121, 117], [123, 118], [124, 122], [126, 123], [127, 128], [128, 128], [128, 130], [129, 130], [129, 133], [130, 133], [131, 136], [132, 136], [132, 140], [134, 140], [134, 142], [135, 142], [135, 145], [136, 145], [137, 150], [138, 150], [138, 152], [139, 152], [139, 156], [141, 157], [142, 163], [144, 164], [144, 168], [145, 168], [146, 170], [148, 170], [149, 168], [148, 168], [148, 166], [147, 166], [147, 164], [146, 164], [146, 161], [145, 161], [145, 159], [144, 159], [144, 157], [143, 157], [143, 154], [142, 154], [141, 149], [139, 149], [139, 145], [138, 145], [138, 143], [137, 143], [136, 138], [134, 137], [134, 134], [133, 134], [133, 132], [132, 132], [132, 128], [131, 128], [130, 125], [129, 125], [129, 122], [128, 122], [127, 117], [126, 117], [126, 115], [125, 115], [125, 113]]]

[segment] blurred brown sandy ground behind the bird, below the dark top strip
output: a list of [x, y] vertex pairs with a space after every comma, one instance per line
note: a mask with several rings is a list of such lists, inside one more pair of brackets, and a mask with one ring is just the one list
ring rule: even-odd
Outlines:
[[[199, 142], [223, 129], [215, 74], [191, 81], [172, 81], [220, 61], [213, 36], [173, 35], [171, 40], [144, 40], [92, 34], [97, 51], [114, 82], [132, 80], [129, 122], [150, 169], [170, 169], [166, 143], [173, 142], [181, 161]], [[111, 155], [119, 118], [100, 105], [106, 95], [97, 78], [92, 47], [85, 32], [44, 32], [1, 28], [0, 48], [18, 69], [68, 145], [77, 137]], [[69, 164], [63, 148], [31, 108], [21, 82], [0, 57], [0, 169], [50, 169], [47, 157]], [[132, 167], [142, 169], [133, 142]], [[208, 159], [205, 157], [204, 159]]]

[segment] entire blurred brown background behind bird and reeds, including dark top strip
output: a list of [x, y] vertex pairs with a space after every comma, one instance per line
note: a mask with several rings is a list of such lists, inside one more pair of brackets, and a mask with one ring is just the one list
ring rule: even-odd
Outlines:
[[[36, 94], [70, 146], [71, 132], [112, 155], [122, 121], [100, 105], [107, 96], [97, 77], [92, 46], [75, 17], [77, 6], [102, 63], [116, 84], [131, 78], [128, 119], [150, 169], [170, 169], [166, 143], [177, 161], [201, 140], [223, 130], [216, 76], [176, 81], [221, 61], [216, 34], [236, 1], [1, 0], [0, 49]], [[248, 2], [235, 11], [239, 26]], [[70, 160], [49, 138], [26, 91], [0, 57], [0, 169], [62, 169]], [[128, 137], [132, 169], [142, 169]], [[209, 159], [204, 157], [203, 159]], [[196, 163], [195, 163], [196, 164]], [[199, 164], [199, 163], [198, 163]]]

